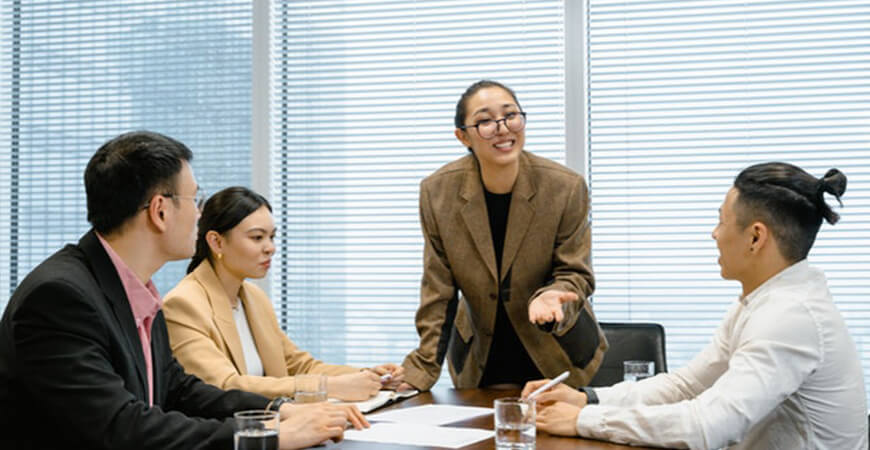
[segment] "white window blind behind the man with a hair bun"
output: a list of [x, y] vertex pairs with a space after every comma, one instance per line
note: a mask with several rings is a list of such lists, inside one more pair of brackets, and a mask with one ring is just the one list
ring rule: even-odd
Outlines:
[[598, 318], [663, 324], [683, 366], [740, 293], [710, 237], [734, 177], [837, 167], [842, 218], [809, 261], [870, 374], [870, 4], [591, 0], [587, 18]]

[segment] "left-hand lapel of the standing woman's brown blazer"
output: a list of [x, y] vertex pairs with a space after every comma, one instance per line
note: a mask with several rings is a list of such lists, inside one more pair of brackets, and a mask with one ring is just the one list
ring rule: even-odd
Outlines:
[[[462, 219], [492, 279], [497, 280], [495, 249], [492, 248], [492, 233], [489, 230], [486, 200], [483, 197], [483, 183], [480, 181], [477, 160], [472, 157], [471, 161], [471, 166], [465, 171], [465, 181], [460, 192], [466, 202], [465, 206], [462, 207]], [[508, 226], [510, 226], [510, 222], [508, 222]]]

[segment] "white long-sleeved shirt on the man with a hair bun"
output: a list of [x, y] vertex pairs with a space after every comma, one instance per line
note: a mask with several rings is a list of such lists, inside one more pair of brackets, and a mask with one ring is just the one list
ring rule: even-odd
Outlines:
[[595, 390], [584, 437], [715, 449], [867, 448], [864, 377], [824, 274], [800, 261], [725, 315], [688, 366]]

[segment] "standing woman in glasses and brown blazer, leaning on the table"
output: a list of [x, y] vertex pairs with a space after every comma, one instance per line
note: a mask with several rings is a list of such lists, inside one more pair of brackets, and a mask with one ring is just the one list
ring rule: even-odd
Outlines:
[[565, 370], [586, 385], [607, 342], [588, 301], [585, 181], [524, 151], [526, 113], [500, 83], [471, 85], [455, 125], [471, 153], [420, 184], [420, 344], [402, 364], [406, 383], [429, 389], [446, 356], [457, 388]]

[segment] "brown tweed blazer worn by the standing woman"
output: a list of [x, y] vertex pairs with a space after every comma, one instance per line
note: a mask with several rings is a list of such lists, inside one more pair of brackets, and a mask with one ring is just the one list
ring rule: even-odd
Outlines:
[[[570, 370], [586, 385], [607, 341], [587, 298], [590, 264], [588, 190], [583, 178], [523, 152], [513, 187], [501, 273], [489, 229], [480, 168], [473, 155], [453, 161], [420, 184], [423, 280], [416, 324], [419, 347], [404, 360], [405, 379], [420, 389], [437, 381], [446, 357], [457, 388], [477, 387], [489, 355], [499, 292], [520, 341], [546, 377]], [[576, 292], [551, 331], [528, 319], [528, 305], [547, 289]]]

